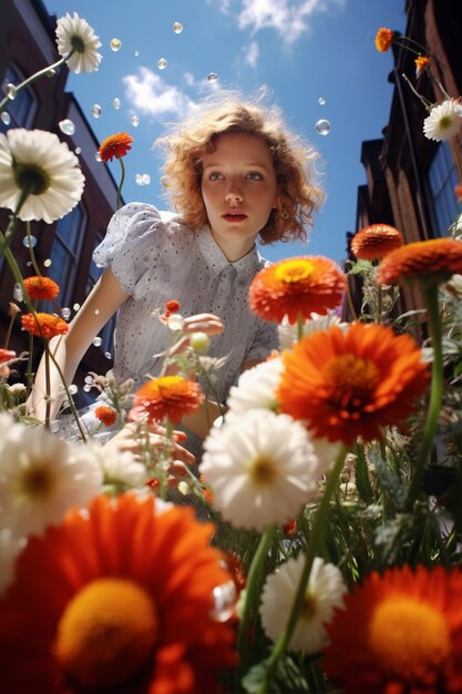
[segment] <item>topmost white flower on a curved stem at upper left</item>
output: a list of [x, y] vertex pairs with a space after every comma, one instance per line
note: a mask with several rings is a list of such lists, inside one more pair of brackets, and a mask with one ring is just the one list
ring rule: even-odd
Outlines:
[[95, 35], [89, 22], [81, 19], [76, 12], [73, 17], [69, 12], [57, 22], [58, 52], [62, 58], [75, 49], [66, 60], [68, 68], [78, 74], [97, 70], [102, 55], [97, 52], [101, 47], [100, 38]]

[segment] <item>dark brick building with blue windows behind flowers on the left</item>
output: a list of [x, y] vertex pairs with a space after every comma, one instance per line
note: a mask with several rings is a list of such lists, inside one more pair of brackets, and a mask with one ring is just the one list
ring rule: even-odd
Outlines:
[[[41, 0], [2, 0], [0, 22], [0, 84], [18, 84], [38, 70], [52, 64], [60, 57], [57, 52], [57, 18], [51, 17]], [[31, 234], [37, 244], [33, 248], [41, 272], [52, 277], [61, 287], [59, 305], [71, 309], [82, 304], [101, 271], [92, 262], [92, 252], [103, 238], [107, 222], [115, 208], [116, 183], [109, 169], [95, 160], [99, 143], [72, 93], [65, 91], [68, 68], [62, 65], [54, 76], [40, 79], [9, 103], [8, 116], [0, 121], [0, 132], [11, 127], [41, 129], [57, 133], [79, 154], [85, 187], [80, 204], [54, 224], [31, 223]], [[72, 121], [65, 134], [59, 123]], [[0, 210], [0, 228], [6, 229], [7, 210]], [[27, 225], [20, 222], [11, 248], [23, 276], [34, 274], [30, 268], [30, 253], [24, 246]], [[47, 261], [51, 261], [47, 267]], [[29, 265], [28, 265], [29, 263]], [[9, 303], [13, 300], [14, 280], [11, 271], [0, 258], [0, 345], [3, 345], [9, 324]], [[39, 307], [53, 310], [52, 306]], [[82, 384], [89, 370], [105, 372], [112, 344], [112, 325], [101, 334], [101, 345], [92, 346], [78, 374]], [[10, 339], [10, 348], [18, 354], [29, 348], [28, 335], [20, 329], [17, 318]], [[39, 355], [37, 355], [39, 356]]]

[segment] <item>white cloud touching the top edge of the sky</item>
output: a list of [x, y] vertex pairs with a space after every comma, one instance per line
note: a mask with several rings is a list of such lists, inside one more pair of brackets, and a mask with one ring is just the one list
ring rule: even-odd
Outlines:
[[[233, 16], [230, 1], [224, 2], [222, 12]], [[239, 0], [237, 12], [239, 29], [256, 33], [274, 29], [286, 43], [294, 43], [309, 30], [309, 19], [316, 12], [327, 11], [331, 6], [343, 6], [345, 0]]]

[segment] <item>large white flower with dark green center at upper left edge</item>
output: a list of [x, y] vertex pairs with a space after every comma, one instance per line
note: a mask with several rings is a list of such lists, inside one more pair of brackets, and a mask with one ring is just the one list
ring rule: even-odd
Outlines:
[[16, 211], [21, 193], [29, 195], [19, 218], [51, 224], [82, 197], [84, 177], [79, 160], [58, 135], [22, 127], [0, 133], [0, 206]]

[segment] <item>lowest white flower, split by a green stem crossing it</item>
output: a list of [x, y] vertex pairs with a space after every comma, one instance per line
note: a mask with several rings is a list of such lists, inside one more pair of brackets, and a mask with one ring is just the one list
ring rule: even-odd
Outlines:
[[[300, 554], [266, 579], [259, 613], [264, 631], [271, 641], [277, 641], [286, 627], [304, 565], [305, 555]], [[304, 605], [289, 642], [291, 651], [314, 654], [326, 645], [325, 624], [331, 620], [333, 609], [342, 606], [346, 591], [339, 569], [315, 557]]]

